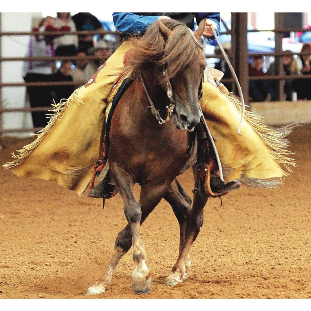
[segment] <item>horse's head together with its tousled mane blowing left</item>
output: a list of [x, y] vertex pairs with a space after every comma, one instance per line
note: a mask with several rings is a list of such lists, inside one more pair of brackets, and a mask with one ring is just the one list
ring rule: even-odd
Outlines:
[[184, 23], [165, 19], [148, 27], [134, 44], [134, 76], [149, 68], [165, 93], [171, 88], [174, 123], [183, 130], [193, 131], [201, 117], [199, 97], [206, 62], [199, 41], [204, 27], [205, 20], [192, 32]]

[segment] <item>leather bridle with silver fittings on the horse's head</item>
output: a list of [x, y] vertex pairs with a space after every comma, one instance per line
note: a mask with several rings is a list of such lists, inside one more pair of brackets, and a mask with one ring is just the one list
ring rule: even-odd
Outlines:
[[[203, 50], [203, 46], [202, 44], [199, 43], [199, 41], [197, 40], [197, 38], [194, 36], [193, 34], [193, 31], [191, 29], [189, 29], [191, 34], [192, 34], [192, 37], [195, 41], [196, 44], [199, 45], [199, 47]], [[151, 97], [149, 95], [149, 92], [147, 90], [147, 87], [146, 87], [146, 84], [145, 84], [145, 81], [144, 81], [144, 78], [142, 77], [142, 72], [139, 73], [140, 74], [140, 78], [142, 80], [142, 85], [145, 89], [145, 92], [146, 92], [146, 95], [148, 97], [148, 100], [149, 100], [149, 103], [150, 105], [146, 108], [146, 110], [148, 108], [151, 108], [151, 113], [155, 116], [155, 118], [157, 119], [157, 121], [159, 122], [159, 124], [164, 124], [164, 123], [167, 123], [169, 122], [169, 120], [172, 118], [172, 115], [173, 115], [173, 112], [174, 112], [174, 109], [175, 109], [175, 105], [176, 105], [176, 102], [175, 102], [175, 99], [174, 99], [174, 93], [173, 93], [173, 88], [172, 88], [172, 84], [171, 84], [171, 81], [169, 80], [169, 75], [167, 73], [167, 69], [166, 69], [166, 65], [165, 63], [163, 64], [163, 76], [165, 77], [165, 82], [166, 82], [166, 86], [167, 86], [167, 97], [169, 98], [169, 105], [166, 106], [166, 109], [167, 109], [167, 117], [165, 120], [163, 120], [160, 116], [160, 110], [156, 109], [155, 105], [153, 104], [152, 100], [151, 100]], [[201, 79], [201, 82], [200, 82], [200, 86], [199, 86], [199, 91], [198, 91], [198, 104], [200, 103], [201, 99], [202, 99], [202, 96], [203, 96], [203, 91], [202, 91], [202, 86], [203, 86], [203, 82], [204, 82], [204, 74], [202, 74], [202, 79]]]

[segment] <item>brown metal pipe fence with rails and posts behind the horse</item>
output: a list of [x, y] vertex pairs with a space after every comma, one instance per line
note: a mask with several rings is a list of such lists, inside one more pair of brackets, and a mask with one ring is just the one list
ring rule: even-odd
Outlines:
[[[255, 56], [255, 55], [264, 55], [264, 56], [274, 56], [276, 60], [276, 75], [274, 76], [266, 76], [265, 79], [267, 80], [275, 80], [278, 86], [278, 92], [276, 97], [278, 100], [281, 99], [281, 81], [285, 81], [286, 79], [307, 79], [311, 78], [311, 75], [290, 75], [285, 76], [282, 74], [281, 71], [281, 63], [278, 60], [280, 57], [284, 55], [289, 55], [287, 52], [282, 52], [281, 50], [281, 34], [284, 32], [290, 31], [311, 31], [311, 29], [301, 29], [301, 28], [292, 28], [292, 29], [284, 29], [281, 25], [281, 15], [282, 13], [275, 13], [275, 25], [276, 29], [272, 30], [247, 30], [247, 13], [231, 13], [231, 25], [232, 29], [222, 32], [221, 34], [229, 34], [231, 35], [231, 51], [228, 53], [228, 57], [230, 58], [234, 70], [237, 72], [237, 76], [239, 78], [242, 91], [245, 97], [245, 103], [248, 103], [248, 81], [251, 80], [262, 80], [262, 77], [249, 77], [248, 76], [248, 68], [245, 68], [245, 65], [248, 64], [248, 57]], [[0, 26], [1, 26], [1, 17], [0, 17]], [[247, 48], [247, 33], [248, 32], [259, 32], [259, 31], [272, 31], [275, 35], [275, 52], [274, 53], [248, 53]], [[40, 32], [40, 35], [63, 35], [64, 32], [62, 31], [53, 31], [53, 32]], [[116, 41], [120, 37], [119, 32], [113, 31], [104, 31], [104, 30], [95, 30], [95, 31], [68, 31], [66, 34], [76, 34], [76, 35], [115, 35]], [[25, 36], [25, 35], [38, 35], [37, 31], [28, 31], [28, 32], [0, 32], [0, 90], [3, 87], [16, 87], [16, 86], [65, 86], [65, 85], [83, 85], [86, 81], [66, 81], [66, 82], [25, 82], [25, 83], [15, 83], [15, 82], [5, 82], [1, 81], [1, 69], [2, 63], [7, 61], [38, 61], [38, 60], [50, 60], [50, 61], [62, 61], [62, 60], [77, 60], [85, 58], [87, 60], [92, 59], [100, 59], [96, 56], [85, 56], [85, 57], [77, 57], [77, 56], [53, 56], [53, 57], [2, 57], [1, 55], [1, 38], [3, 36]], [[292, 53], [295, 55], [306, 55], [308, 52], [305, 53]], [[218, 54], [207, 54], [207, 58], [221, 58]], [[233, 91], [235, 92], [235, 83], [233, 79], [222, 79], [222, 82], [229, 82], [232, 84]], [[0, 92], [0, 135], [4, 133], [10, 132], [35, 132], [40, 130], [41, 128], [20, 128], [20, 129], [3, 129], [2, 127], [2, 114], [3, 113], [17, 113], [17, 112], [35, 112], [35, 111], [49, 111], [52, 107], [36, 107], [36, 108], [4, 108], [2, 105], [2, 97]]]

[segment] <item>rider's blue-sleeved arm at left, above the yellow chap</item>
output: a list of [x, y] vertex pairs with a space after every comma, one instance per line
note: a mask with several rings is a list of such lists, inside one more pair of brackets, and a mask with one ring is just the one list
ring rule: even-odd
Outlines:
[[154, 23], [159, 16], [140, 16], [134, 13], [112, 13], [116, 30], [128, 34], [144, 33], [148, 26]]

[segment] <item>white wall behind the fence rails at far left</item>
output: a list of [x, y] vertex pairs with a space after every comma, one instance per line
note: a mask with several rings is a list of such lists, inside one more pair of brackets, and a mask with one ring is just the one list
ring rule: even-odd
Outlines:
[[[30, 31], [32, 13], [0, 13], [1, 31]], [[29, 36], [2, 36], [2, 57], [24, 57], [27, 51]], [[22, 61], [2, 62], [1, 81], [24, 82], [21, 74]], [[2, 87], [3, 108], [25, 107], [26, 88], [24, 86]], [[4, 129], [32, 127], [30, 113], [4, 113], [2, 114]], [[16, 136], [16, 133], [13, 135]], [[29, 136], [29, 133], [19, 134]]]

